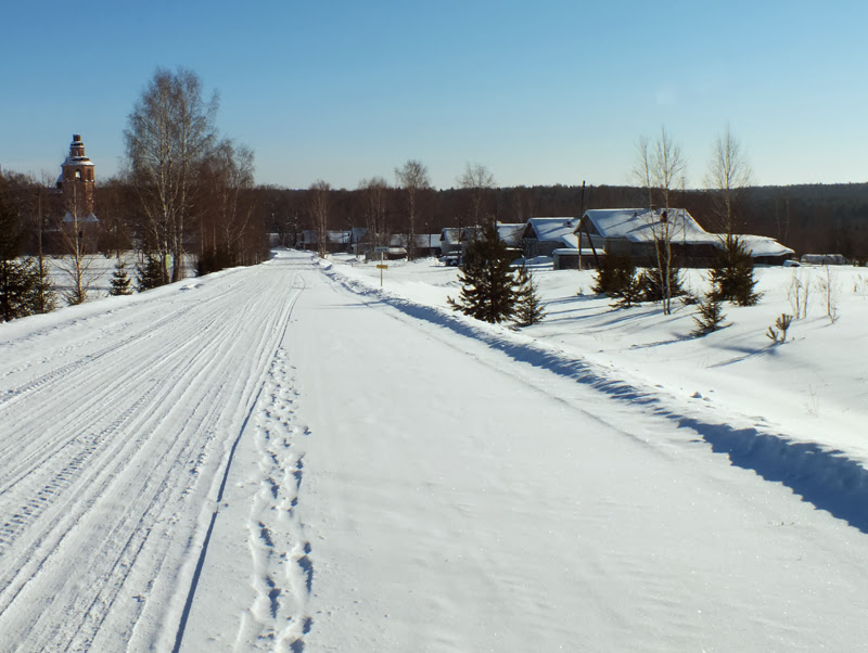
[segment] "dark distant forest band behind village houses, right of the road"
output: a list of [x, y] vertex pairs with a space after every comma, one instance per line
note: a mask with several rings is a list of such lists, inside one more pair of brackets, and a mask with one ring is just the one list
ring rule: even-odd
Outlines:
[[[485, 213], [501, 222], [523, 222], [531, 217], [576, 217], [589, 208], [644, 207], [646, 189], [615, 185], [537, 185], [490, 189]], [[309, 229], [307, 190], [258, 187], [257, 210], [272, 232], [294, 233]], [[393, 190], [387, 223], [401, 232], [400, 191]], [[330, 229], [363, 227], [366, 202], [360, 190], [331, 191]], [[471, 214], [465, 189], [424, 193], [417, 231], [437, 233], [444, 227], [467, 225]], [[709, 231], [712, 221], [710, 191], [675, 193], [675, 205], [684, 207]], [[868, 183], [755, 187], [741, 191], [739, 231], [769, 235], [801, 254], [843, 254], [868, 259]]]

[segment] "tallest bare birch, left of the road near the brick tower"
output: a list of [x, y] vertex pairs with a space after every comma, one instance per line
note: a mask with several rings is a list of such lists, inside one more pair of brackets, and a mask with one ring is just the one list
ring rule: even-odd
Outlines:
[[133, 106], [124, 132], [132, 182], [141, 200], [150, 246], [164, 281], [183, 277], [183, 236], [195, 180], [215, 139], [217, 94], [205, 101], [192, 71], [157, 68]]

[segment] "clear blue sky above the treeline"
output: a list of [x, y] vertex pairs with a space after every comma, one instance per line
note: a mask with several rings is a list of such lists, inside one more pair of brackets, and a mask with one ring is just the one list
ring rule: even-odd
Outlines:
[[217, 90], [256, 180], [623, 184], [665, 126], [703, 185], [729, 123], [757, 184], [868, 181], [868, 3], [612, 0], [9, 2], [0, 166], [60, 172], [81, 133], [117, 171], [158, 66]]

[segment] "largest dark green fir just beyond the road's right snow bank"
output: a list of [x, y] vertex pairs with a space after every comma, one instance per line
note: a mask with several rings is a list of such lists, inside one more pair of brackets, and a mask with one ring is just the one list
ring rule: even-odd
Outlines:
[[461, 273], [461, 294], [458, 300], [448, 298], [455, 310], [464, 315], [497, 323], [508, 320], [515, 312], [515, 278], [509, 267], [510, 255], [489, 223], [464, 253]]

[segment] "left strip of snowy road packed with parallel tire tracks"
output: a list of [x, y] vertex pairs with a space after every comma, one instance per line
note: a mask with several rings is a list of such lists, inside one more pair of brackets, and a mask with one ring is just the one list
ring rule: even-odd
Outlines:
[[14, 524], [0, 545], [0, 650], [148, 648], [177, 618], [189, 528], [289, 318], [277, 272], [251, 274], [242, 293], [216, 287], [161, 326], [93, 337], [90, 354], [34, 368], [0, 404], [0, 518]]

